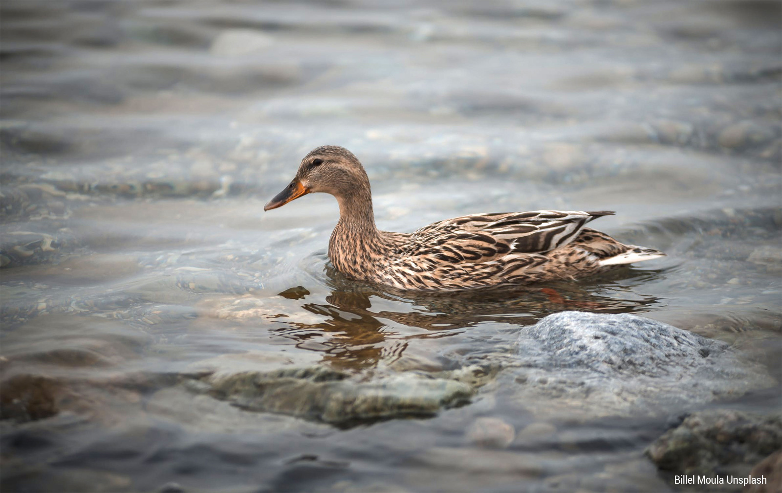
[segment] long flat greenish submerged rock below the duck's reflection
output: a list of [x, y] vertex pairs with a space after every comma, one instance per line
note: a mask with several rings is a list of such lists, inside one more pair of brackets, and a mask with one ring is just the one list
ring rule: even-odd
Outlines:
[[325, 423], [350, 423], [404, 416], [430, 416], [466, 404], [467, 383], [402, 372], [361, 381], [345, 372], [312, 365], [271, 371], [201, 374], [192, 388], [253, 411], [275, 412]]

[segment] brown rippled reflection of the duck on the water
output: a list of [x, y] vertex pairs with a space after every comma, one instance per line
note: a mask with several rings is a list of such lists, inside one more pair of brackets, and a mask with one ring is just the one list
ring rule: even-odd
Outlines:
[[[277, 332], [296, 340], [298, 347], [322, 351], [329, 365], [361, 370], [400, 358], [411, 340], [455, 336], [479, 323], [526, 326], [565, 310], [647, 311], [658, 304], [658, 298], [635, 293], [633, 286], [658, 278], [662, 271], [622, 268], [580, 282], [454, 293], [411, 293], [356, 282], [344, 278], [329, 264], [325, 274], [331, 291], [325, 304], [301, 305], [310, 313], [326, 317], [325, 321], [285, 322], [287, 328]], [[400, 326], [413, 330], [402, 331]], [[313, 341], [324, 335], [329, 335], [325, 342]]]

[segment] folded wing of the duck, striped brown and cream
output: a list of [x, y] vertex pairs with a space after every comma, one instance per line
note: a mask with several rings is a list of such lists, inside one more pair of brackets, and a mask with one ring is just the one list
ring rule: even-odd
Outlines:
[[411, 257], [481, 263], [507, 254], [541, 254], [576, 239], [584, 225], [613, 211], [529, 211], [446, 219], [412, 233]]

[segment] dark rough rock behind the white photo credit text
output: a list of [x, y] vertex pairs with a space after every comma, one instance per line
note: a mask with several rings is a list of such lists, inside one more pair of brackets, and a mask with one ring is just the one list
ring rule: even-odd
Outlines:
[[[661, 470], [675, 474], [748, 477], [752, 466], [780, 444], [782, 416], [719, 409], [691, 413], [651, 444], [647, 455]], [[710, 488], [741, 491], [741, 484]]]

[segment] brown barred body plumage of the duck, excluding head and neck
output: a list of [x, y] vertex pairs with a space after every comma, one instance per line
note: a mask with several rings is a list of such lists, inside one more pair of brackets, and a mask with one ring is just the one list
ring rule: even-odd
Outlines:
[[[403, 290], [468, 290], [575, 279], [605, 259], [640, 247], [584, 228], [612, 211], [529, 211], [447, 219], [410, 234], [380, 232], [373, 242], [332, 236], [335, 267], [353, 279]], [[337, 232], [337, 230], [335, 230]], [[649, 258], [662, 252], [643, 249]]]

